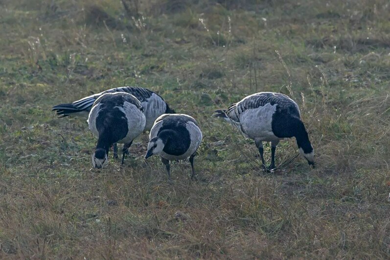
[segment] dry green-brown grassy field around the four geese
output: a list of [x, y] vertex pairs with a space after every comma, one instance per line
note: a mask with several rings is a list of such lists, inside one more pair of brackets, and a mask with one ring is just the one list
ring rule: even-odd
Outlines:
[[[389, 1], [0, 2], [1, 259], [390, 258]], [[121, 86], [198, 120], [198, 181], [147, 134], [91, 169], [86, 119], [50, 109]], [[297, 101], [315, 169], [291, 139], [262, 173], [211, 117], [259, 91]]]

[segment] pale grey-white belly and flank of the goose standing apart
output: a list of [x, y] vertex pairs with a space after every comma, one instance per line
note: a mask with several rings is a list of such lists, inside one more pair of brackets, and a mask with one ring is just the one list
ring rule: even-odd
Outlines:
[[279, 140], [272, 131], [272, 116], [276, 111], [276, 104], [266, 104], [259, 108], [247, 109], [239, 115], [241, 130], [253, 140]]

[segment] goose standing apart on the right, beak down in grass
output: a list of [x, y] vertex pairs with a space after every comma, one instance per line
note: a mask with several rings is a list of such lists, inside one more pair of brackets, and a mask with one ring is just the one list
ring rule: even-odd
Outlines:
[[267, 168], [262, 142], [271, 142], [271, 165], [268, 170], [273, 170], [276, 145], [280, 139], [290, 137], [297, 139], [300, 154], [314, 167], [314, 149], [300, 119], [298, 105], [288, 96], [274, 92], [255, 93], [228, 109], [215, 110], [213, 115], [233, 123], [244, 135], [254, 140], [264, 171]]

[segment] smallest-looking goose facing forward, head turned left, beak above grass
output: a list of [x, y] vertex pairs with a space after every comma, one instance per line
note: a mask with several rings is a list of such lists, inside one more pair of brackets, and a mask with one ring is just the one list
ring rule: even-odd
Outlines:
[[161, 156], [168, 179], [171, 179], [170, 160], [189, 157], [192, 174], [195, 178], [194, 157], [202, 141], [202, 131], [194, 118], [185, 114], [163, 114], [156, 119], [149, 134], [148, 151], [145, 158], [154, 154]]

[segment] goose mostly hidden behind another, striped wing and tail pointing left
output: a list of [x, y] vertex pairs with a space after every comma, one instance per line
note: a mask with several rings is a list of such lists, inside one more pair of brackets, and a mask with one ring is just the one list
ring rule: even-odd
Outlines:
[[[156, 118], [162, 114], [174, 114], [175, 111], [169, 108], [168, 104], [162, 99], [161, 96], [155, 92], [142, 87], [115, 87], [106, 91], [93, 94], [91, 96], [82, 98], [69, 104], [61, 104], [54, 106], [52, 110], [56, 111], [56, 114], [61, 117], [66, 117], [71, 114], [76, 115], [88, 115], [93, 102], [105, 93], [126, 92], [135, 96], [144, 108], [144, 114], [146, 118], [144, 131], [149, 131]], [[117, 158], [117, 147], [114, 144], [114, 158]]]

